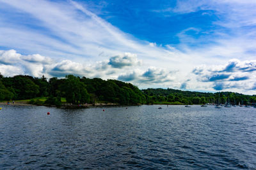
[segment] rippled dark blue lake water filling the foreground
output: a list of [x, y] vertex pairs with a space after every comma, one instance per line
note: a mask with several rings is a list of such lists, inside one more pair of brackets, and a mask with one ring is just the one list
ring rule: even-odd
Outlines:
[[1, 107], [0, 169], [256, 168], [255, 108]]

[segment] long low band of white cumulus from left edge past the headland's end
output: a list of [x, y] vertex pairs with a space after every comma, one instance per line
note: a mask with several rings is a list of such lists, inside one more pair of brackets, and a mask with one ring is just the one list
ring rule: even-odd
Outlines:
[[[159, 67], [139, 68], [141, 60], [138, 60], [137, 55], [134, 53], [115, 55], [110, 57], [109, 60], [95, 62], [94, 64], [85, 64], [72, 60], [56, 61], [40, 54], [21, 55], [15, 50], [3, 50], [1, 54], [1, 56], [4, 56], [2, 57], [3, 59], [9, 56], [13, 61], [8, 62], [8, 64], [6, 62], [0, 64], [0, 72], [4, 76], [29, 74], [41, 77], [44, 74], [46, 77], [63, 77], [67, 74], [74, 74], [90, 78], [117, 78], [122, 81], [151, 86], [153, 84], [170, 85], [170, 82], [175, 80], [175, 73], [177, 72]], [[122, 70], [123, 74], [120, 74], [120, 70]]]

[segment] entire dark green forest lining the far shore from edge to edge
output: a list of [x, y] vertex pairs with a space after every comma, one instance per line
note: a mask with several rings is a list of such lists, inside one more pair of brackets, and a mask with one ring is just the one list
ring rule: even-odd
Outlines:
[[0, 74], [0, 101], [47, 97], [45, 104], [61, 105], [61, 97], [67, 103], [116, 103], [116, 104], [205, 104], [255, 103], [256, 96], [234, 92], [190, 92], [174, 89], [143, 89], [131, 83], [101, 78], [80, 78], [67, 75], [65, 78], [34, 78], [27, 75], [4, 77]]

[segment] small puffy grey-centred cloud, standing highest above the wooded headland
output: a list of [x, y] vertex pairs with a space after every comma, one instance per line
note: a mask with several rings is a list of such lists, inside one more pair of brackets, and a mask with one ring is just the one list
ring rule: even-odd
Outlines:
[[137, 66], [141, 64], [141, 60], [137, 59], [134, 53], [124, 53], [123, 55], [116, 55], [109, 59], [108, 64], [115, 68], [122, 68], [125, 66]]

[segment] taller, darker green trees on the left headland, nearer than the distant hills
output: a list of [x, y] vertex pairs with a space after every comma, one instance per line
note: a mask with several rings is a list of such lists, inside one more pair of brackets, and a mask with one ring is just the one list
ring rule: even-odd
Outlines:
[[118, 80], [80, 78], [67, 75], [65, 78], [34, 78], [27, 75], [0, 76], [0, 101], [48, 97], [46, 103], [60, 104], [61, 97], [67, 103], [84, 104], [95, 102], [118, 104], [143, 104], [145, 96], [138, 87]]

